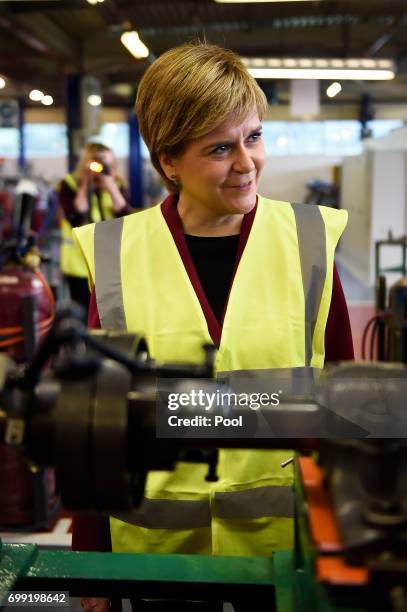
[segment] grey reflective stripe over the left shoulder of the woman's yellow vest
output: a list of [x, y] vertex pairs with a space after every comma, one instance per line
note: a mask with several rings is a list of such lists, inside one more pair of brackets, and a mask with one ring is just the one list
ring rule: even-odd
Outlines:
[[95, 225], [95, 291], [99, 319], [104, 329], [127, 328], [120, 271], [122, 231], [123, 218]]

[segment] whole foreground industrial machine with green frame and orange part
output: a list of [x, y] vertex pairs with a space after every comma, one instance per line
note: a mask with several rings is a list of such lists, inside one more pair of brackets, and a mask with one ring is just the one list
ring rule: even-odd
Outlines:
[[[131, 513], [147, 472], [171, 469], [180, 457], [207, 462], [211, 471], [208, 450], [216, 446], [295, 448], [295, 550], [269, 559], [3, 545], [0, 592], [170, 600], [181, 592], [185, 599], [213, 602], [256, 598], [265, 610], [280, 612], [407, 610], [404, 365], [332, 369], [312, 394], [287, 394], [262, 410], [260, 420], [277, 432], [268, 437], [159, 438], [157, 380], [166, 392], [173, 384], [188, 391], [196, 380], [216, 389], [213, 347], [201, 366], [157, 364], [143, 338], [89, 332], [73, 314], [59, 312], [26, 367], [2, 356], [0, 439], [39, 465], [56, 466], [68, 507], [107, 513]], [[185, 405], [178, 414], [191, 417], [191, 409]], [[222, 416], [225, 408], [213, 414]], [[260, 418], [245, 407], [239, 414]]]

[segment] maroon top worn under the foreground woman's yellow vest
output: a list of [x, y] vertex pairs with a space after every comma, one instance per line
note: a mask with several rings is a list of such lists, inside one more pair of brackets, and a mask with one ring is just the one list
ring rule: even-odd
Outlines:
[[[173, 195], [169, 196], [162, 203], [161, 210], [174, 238], [174, 242], [178, 247], [191, 284], [201, 304], [213, 343], [219, 346], [222, 327], [217, 321], [206, 299], [187, 248], [182, 222], [178, 214], [177, 198]], [[256, 207], [243, 217], [233, 277], [246, 245], [255, 214]], [[225, 305], [225, 310], [226, 307], [227, 303]], [[95, 290], [92, 291], [90, 298], [88, 324], [89, 327], [92, 328], [100, 328], [101, 326]], [[332, 299], [325, 329], [325, 362], [346, 361], [352, 360], [353, 358], [353, 342], [348, 308], [338, 271], [334, 265]], [[110, 530], [107, 517], [97, 515], [75, 516], [73, 520], [72, 548], [74, 550], [111, 550]]]

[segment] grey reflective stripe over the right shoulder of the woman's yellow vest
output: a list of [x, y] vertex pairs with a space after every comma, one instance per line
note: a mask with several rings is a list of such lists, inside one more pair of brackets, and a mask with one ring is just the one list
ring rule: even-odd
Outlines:
[[325, 224], [317, 206], [291, 204], [297, 225], [305, 297], [305, 365], [312, 359], [314, 337], [326, 278]]

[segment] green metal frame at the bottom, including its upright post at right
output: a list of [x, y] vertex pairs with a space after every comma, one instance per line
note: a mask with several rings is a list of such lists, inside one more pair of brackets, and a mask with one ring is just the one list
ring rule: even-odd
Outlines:
[[[278, 612], [365, 612], [366, 590], [315, 581], [316, 551], [296, 466], [296, 547], [267, 557], [212, 557], [39, 550], [0, 542], [0, 594], [267, 602]], [[0, 601], [1, 607], [1, 601]]]

